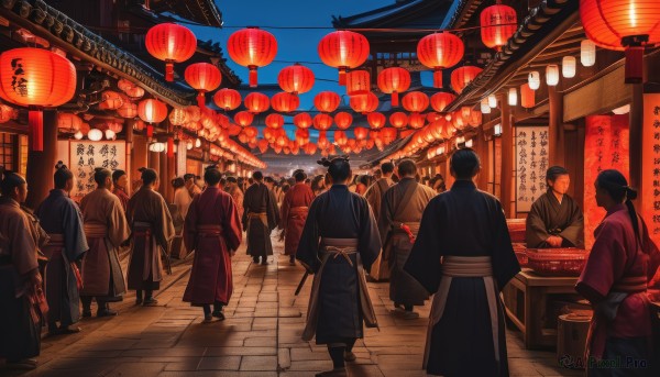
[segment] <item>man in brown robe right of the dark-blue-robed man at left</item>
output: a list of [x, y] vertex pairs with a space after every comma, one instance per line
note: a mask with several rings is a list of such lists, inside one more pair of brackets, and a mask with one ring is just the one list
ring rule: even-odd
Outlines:
[[97, 301], [97, 317], [117, 315], [109, 302], [123, 300], [127, 291], [119, 263], [119, 246], [129, 239], [129, 226], [121, 201], [112, 189], [112, 173], [96, 168], [96, 190], [80, 200], [85, 236], [89, 251], [82, 257], [82, 317], [91, 317], [91, 300]]

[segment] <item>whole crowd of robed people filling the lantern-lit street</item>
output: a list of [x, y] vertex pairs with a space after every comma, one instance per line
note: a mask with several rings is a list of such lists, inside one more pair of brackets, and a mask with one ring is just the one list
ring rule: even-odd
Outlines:
[[[223, 320], [233, 291], [231, 257], [243, 231], [252, 262], [267, 265], [278, 229], [275, 236], [284, 241], [288, 262], [314, 276], [302, 339], [327, 345], [333, 363], [319, 375], [345, 376], [363, 326], [377, 326], [369, 274], [389, 281], [391, 315], [416, 319], [415, 307], [432, 296], [424, 357], [428, 374], [507, 376], [499, 291], [520, 266], [502, 203], [474, 184], [481, 169], [476, 153], [463, 148], [451, 156], [455, 182], [447, 191], [442, 176], [420, 177], [411, 159], [384, 163], [373, 177], [354, 176], [346, 157], [319, 163], [326, 175], [308, 177], [297, 169], [282, 179], [261, 171], [237, 178], [211, 165], [204, 178], [174, 179], [173, 203], [158, 193], [158, 174], [148, 168], [140, 170], [132, 195], [124, 171], [96, 169], [97, 189], [76, 203], [68, 196], [75, 177], [58, 164], [54, 189], [34, 213], [22, 206], [25, 179], [4, 171], [0, 358], [11, 367], [34, 368], [41, 326], [53, 335], [79, 332], [76, 324], [92, 315], [94, 301], [97, 317], [117, 315], [110, 304], [127, 290], [135, 290], [135, 304], [156, 304], [154, 291], [169, 258], [190, 254], [183, 300], [202, 308], [204, 322]], [[581, 247], [583, 218], [565, 195], [568, 171], [554, 166], [546, 178], [548, 195], [528, 218], [528, 244]], [[636, 191], [624, 176], [604, 170], [595, 186], [607, 217], [576, 286], [595, 308], [591, 357], [651, 359], [646, 289], [660, 252], [635, 212]], [[594, 375], [613, 375], [590, 365]]]

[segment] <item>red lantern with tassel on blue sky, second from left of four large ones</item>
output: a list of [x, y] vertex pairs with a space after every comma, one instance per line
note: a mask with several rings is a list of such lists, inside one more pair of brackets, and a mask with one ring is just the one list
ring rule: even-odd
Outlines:
[[229, 56], [250, 69], [250, 87], [256, 88], [256, 68], [267, 66], [277, 55], [277, 40], [257, 27], [239, 30], [227, 42]]

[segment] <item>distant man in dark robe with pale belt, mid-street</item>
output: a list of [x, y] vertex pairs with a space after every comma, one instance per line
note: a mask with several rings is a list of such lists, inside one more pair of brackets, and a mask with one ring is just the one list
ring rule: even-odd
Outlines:
[[254, 263], [268, 264], [268, 255], [273, 255], [271, 232], [279, 223], [279, 211], [273, 192], [264, 185], [261, 171], [252, 175], [254, 185], [245, 190], [243, 197], [243, 226], [248, 233], [248, 255]]

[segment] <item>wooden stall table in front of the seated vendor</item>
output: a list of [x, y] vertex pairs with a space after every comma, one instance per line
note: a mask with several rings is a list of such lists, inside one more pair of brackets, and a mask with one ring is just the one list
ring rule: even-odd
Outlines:
[[[522, 333], [526, 348], [554, 347], [557, 345], [557, 315], [551, 308], [553, 296], [562, 295], [578, 301], [581, 297], [575, 292], [578, 277], [547, 277], [524, 268], [503, 289], [505, 310], [512, 322]], [[580, 306], [580, 304], [576, 304]], [[584, 307], [584, 309], [588, 309]], [[554, 315], [554, 318], [549, 318]]]

